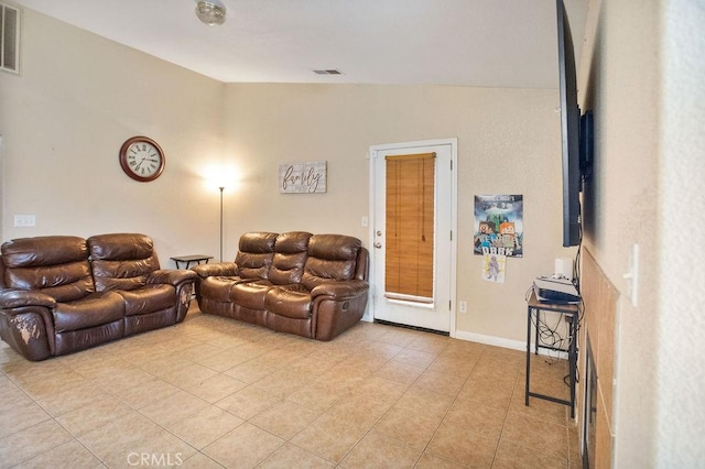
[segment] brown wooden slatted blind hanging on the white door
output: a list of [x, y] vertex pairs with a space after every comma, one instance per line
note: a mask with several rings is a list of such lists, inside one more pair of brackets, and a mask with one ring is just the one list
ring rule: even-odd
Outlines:
[[386, 156], [384, 296], [433, 303], [435, 153]]

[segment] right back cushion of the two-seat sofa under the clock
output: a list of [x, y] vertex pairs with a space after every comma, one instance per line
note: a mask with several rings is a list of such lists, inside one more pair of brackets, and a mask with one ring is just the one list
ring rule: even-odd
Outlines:
[[139, 233], [88, 238], [96, 291], [141, 288], [160, 268], [152, 239]]

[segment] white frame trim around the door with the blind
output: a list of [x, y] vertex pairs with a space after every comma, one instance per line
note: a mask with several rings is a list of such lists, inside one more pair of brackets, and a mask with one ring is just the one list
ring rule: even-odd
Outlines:
[[[370, 165], [370, 200], [369, 200], [369, 251], [370, 251], [370, 288], [371, 298], [368, 302], [368, 315], [369, 320], [375, 320], [376, 317], [376, 302], [373, 295], [376, 294], [375, 285], [377, 285], [377, 275], [375, 265], [377, 261], [377, 255], [379, 255], [379, 251], [375, 249], [376, 236], [375, 236], [375, 220], [376, 220], [376, 190], [377, 190], [377, 174], [376, 174], [376, 154], [379, 151], [389, 151], [389, 150], [402, 150], [409, 149], [409, 152], [413, 152], [414, 149], [420, 146], [434, 146], [434, 145], [451, 145], [452, 149], [452, 189], [451, 189], [451, 308], [449, 308], [449, 336], [456, 336], [456, 314], [457, 314], [457, 239], [458, 239], [458, 221], [457, 221], [457, 138], [451, 139], [437, 139], [437, 140], [424, 140], [424, 141], [414, 141], [414, 142], [402, 142], [402, 143], [389, 143], [381, 145], [372, 145], [370, 146], [369, 152], [369, 165]], [[383, 275], [383, 273], [381, 273]]]

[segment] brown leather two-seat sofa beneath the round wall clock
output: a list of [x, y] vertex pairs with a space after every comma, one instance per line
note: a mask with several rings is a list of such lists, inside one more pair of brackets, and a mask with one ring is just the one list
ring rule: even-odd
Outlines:
[[29, 360], [180, 323], [196, 281], [161, 270], [144, 234], [23, 238], [1, 252], [0, 337]]

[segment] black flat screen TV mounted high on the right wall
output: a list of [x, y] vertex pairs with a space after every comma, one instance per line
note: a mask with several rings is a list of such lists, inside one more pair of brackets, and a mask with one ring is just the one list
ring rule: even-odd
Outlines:
[[563, 246], [578, 246], [581, 227], [581, 108], [577, 103], [575, 53], [563, 0], [556, 0], [561, 141], [563, 163]]

